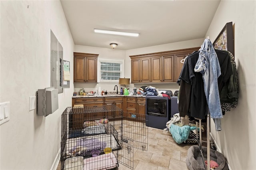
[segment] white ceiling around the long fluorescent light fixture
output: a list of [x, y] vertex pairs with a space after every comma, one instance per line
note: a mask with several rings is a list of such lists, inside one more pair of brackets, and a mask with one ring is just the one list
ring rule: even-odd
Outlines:
[[[61, 0], [76, 45], [135, 49], [204, 38], [220, 0]], [[138, 37], [94, 33], [94, 28]]]

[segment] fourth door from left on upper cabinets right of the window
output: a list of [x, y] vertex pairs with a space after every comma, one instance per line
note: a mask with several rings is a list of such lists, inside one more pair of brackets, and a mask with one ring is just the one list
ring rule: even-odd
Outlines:
[[174, 55], [163, 57], [163, 82], [174, 82]]

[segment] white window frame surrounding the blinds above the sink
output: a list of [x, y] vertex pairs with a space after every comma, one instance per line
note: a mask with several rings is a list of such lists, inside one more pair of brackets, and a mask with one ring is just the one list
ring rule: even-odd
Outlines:
[[98, 83], [118, 83], [118, 80], [103, 80], [101, 79], [101, 74], [100, 74], [100, 63], [119, 63], [120, 64], [120, 77], [124, 77], [124, 59], [107, 59], [107, 58], [98, 58]]

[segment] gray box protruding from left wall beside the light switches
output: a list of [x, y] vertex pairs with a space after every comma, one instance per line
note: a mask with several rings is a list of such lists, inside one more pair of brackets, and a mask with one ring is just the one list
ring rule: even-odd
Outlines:
[[48, 116], [59, 108], [58, 89], [47, 87], [37, 91], [37, 115]]

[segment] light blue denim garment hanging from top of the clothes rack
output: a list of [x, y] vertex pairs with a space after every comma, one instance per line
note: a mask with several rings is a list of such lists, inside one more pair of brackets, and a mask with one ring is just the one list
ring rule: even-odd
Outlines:
[[[211, 118], [222, 118], [223, 115], [218, 90], [218, 77], [221, 75], [220, 63], [212, 42], [209, 39], [205, 39], [200, 48], [194, 71], [202, 73], [204, 93], [206, 95]], [[216, 122], [216, 120], [214, 121]], [[220, 120], [217, 121], [219, 122], [216, 122], [216, 130], [220, 130]]]

